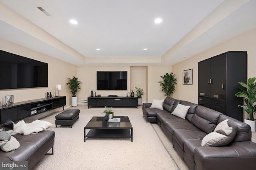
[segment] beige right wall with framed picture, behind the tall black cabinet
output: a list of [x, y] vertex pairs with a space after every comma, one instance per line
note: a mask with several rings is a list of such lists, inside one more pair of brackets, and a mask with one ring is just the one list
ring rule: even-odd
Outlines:
[[[215, 55], [225, 53], [227, 51], [247, 51], [248, 54], [248, 65], [247, 65], [247, 76], [256, 76], [256, 29], [252, 29], [246, 33], [238, 35], [228, 41], [212, 47], [202, 53], [195, 55], [183, 62], [175, 64], [172, 67], [174, 74], [177, 76], [178, 84], [176, 92], [173, 97], [181, 100], [187, 100], [193, 103], [198, 103], [198, 62], [204, 59], [208, 59]], [[193, 85], [182, 85], [182, 70], [193, 69]], [[238, 68], [239, 69], [239, 68]], [[247, 116], [247, 115], [246, 115]]]

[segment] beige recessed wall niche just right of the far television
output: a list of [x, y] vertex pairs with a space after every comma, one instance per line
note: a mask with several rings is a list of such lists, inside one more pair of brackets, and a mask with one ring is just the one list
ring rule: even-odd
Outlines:
[[143, 89], [142, 102], [147, 102], [146, 69], [146, 66], [130, 66], [130, 88], [134, 91], [134, 97], [137, 97], [135, 87]]

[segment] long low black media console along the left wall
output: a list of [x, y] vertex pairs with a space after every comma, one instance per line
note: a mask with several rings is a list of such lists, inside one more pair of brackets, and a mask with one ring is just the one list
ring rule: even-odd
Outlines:
[[[0, 123], [10, 119], [18, 121], [66, 105], [66, 96], [43, 98], [0, 106]], [[64, 108], [63, 108], [64, 109]]]

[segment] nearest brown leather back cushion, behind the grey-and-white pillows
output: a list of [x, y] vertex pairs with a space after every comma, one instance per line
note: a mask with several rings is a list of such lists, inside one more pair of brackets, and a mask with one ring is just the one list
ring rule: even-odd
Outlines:
[[228, 117], [227, 115], [220, 115], [220, 119], [218, 123], [222, 122], [223, 120], [228, 119], [228, 125], [233, 128], [238, 128], [236, 132], [236, 136], [234, 137], [232, 142], [242, 142], [242, 141], [251, 141], [252, 139], [252, 132], [250, 125]]

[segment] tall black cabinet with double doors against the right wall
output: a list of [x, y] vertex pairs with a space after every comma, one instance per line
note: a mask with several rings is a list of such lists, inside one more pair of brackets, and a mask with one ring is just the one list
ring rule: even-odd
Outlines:
[[198, 62], [198, 104], [243, 121], [238, 82], [247, 82], [247, 52], [230, 51]]

